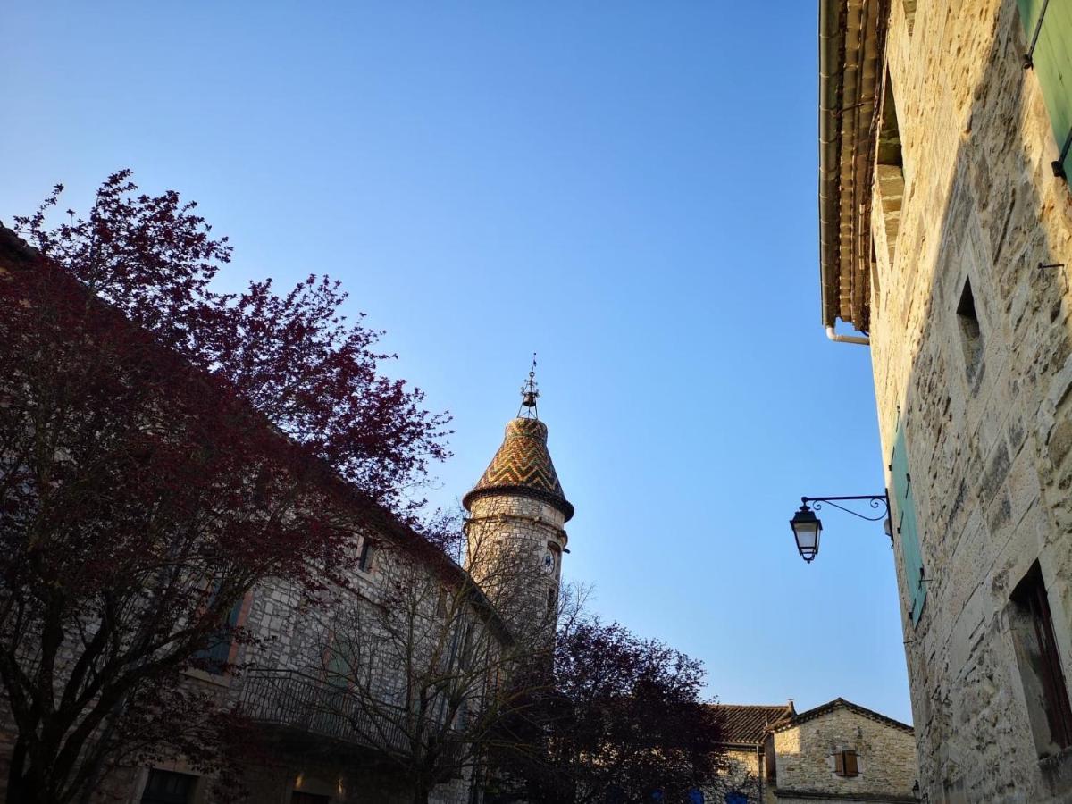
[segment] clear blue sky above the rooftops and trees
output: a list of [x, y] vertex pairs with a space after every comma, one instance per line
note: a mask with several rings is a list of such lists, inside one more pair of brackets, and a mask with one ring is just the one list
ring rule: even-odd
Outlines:
[[341, 278], [473, 485], [539, 353], [568, 578], [725, 702], [909, 720], [868, 351], [819, 321], [814, 3], [15, 3], [0, 220], [129, 166]]

